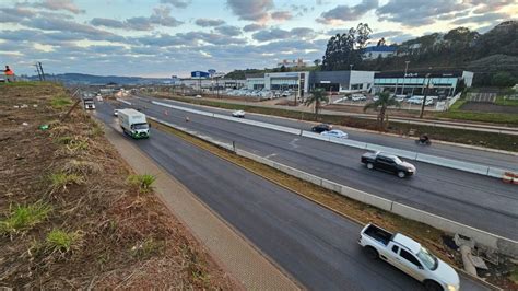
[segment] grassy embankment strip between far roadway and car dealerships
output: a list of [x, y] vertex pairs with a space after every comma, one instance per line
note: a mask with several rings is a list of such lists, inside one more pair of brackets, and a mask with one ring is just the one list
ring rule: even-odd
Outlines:
[[[254, 105], [232, 104], [232, 103], [225, 103], [225, 102], [189, 98], [189, 97], [180, 97], [180, 96], [167, 96], [167, 98], [172, 98], [172, 100], [176, 100], [180, 102], [187, 102], [191, 104], [225, 108], [225, 109], [243, 109], [249, 113], [282, 116], [282, 117], [307, 120], [307, 121], [321, 121], [321, 123], [342, 125], [342, 126], [348, 126], [348, 127], [353, 127], [353, 128], [376, 130], [375, 120], [368, 120], [368, 119], [356, 118], [356, 117], [339, 116], [339, 115], [319, 115], [318, 117], [316, 117], [311, 113], [286, 110], [282, 108], [267, 108], [267, 107], [260, 107], [260, 106], [254, 106]], [[461, 106], [461, 104], [458, 105], [457, 103], [454, 104], [452, 106], [454, 113], [458, 112], [458, 107]], [[473, 114], [473, 113], [463, 113], [463, 112], [460, 112], [459, 115], [464, 115], [464, 116], [473, 115], [474, 116], [473, 118], [476, 118], [479, 116], [478, 113]], [[485, 118], [488, 118], [487, 115], [485, 116]], [[494, 118], [501, 118], [501, 120], [506, 120], [505, 118], [507, 117], [495, 115]], [[511, 115], [511, 118], [513, 118], [511, 119], [513, 123], [518, 124], [518, 115], [516, 116]], [[479, 132], [479, 131], [451, 129], [451, 128], [434, 127], [434, 126], [409, 125], [409, 124], [401, 124], [401, 123], [393, 123], [393, 121], [390, 123], [390, 126], [388, 128], [388, 132], [397, 133], [397, 135], [408, 135], [410, 131], [414, 131], [414, 136], [419, 136], [421, 133], [428, 133], [428, 136], [434, 140], [444, 140], [444, 141], [449, 141], [449, 142], [479, 146], [479, 147], [485, 147], [485, 148], [492, 148], [492, 149], [498, 149], [498, 150], [517, 151], [517, 148], [518, 148], [518, 136], [507, 136], [507, 135], [499, 135], [499, 133], [492, 133], [492, 132]]]

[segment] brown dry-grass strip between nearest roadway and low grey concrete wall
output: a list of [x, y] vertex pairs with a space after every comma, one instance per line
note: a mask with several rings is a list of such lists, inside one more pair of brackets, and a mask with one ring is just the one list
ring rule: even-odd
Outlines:
[[[372, 207], [369, 205], [350, 199], [338, 193], [322, 188], [315, 184], [298, 179], [294, 176], [287, 175], [268, 165], [258, 163], [256, 161], [238, 156], [233, 152], [222, 149], [197, 137], [190, 136], [186, 132], [177, 130], [175, 128], [164, 126], [162, 124], [152, 121], [153, 128], [161, 129], [170, 132], [196, 147], [211, 152], [228, 162], [242, 166], [254, 174], [257, 174], [281, 187], [284, 187], [291, 191], [294, 191], [306, 199], [315, 201], [352, 221], [364, 225], [368, 222], [376, 223], [389, 231], [401, 232], [409, 235], [416, 241], [421, 242], [424, 246], [431, 249], [434, 254], [440, 257], [443, 260], [462, 268], [462, 260], [460, 253], [450, 249], [445, 243], [445, 240], [451, 238], [449, 234], [439, 231], [435, 228], [426, 225], [421, 222], [409, 220], [391, 212]], [[510, 265], [511, 266], [511, 265]], [[516, 282], [511, 281], [513, 272], [506, 270], [508, 277], [492, 276], [487, 280], [492, 283], [504, 287], [504, 289], [518, 288]]]

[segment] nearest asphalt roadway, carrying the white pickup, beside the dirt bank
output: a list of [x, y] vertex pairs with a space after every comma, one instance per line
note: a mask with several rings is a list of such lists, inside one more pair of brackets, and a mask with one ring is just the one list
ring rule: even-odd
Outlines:
[[[102, 104], [96, 114], [109, 126], [111, 113]], [[423, 289], [390, 265], [367, 258], [357, 244], [362, 225], [173, 135], [152, 129], [150, 139], [132, 142], [306, 288]], [[461, 288], [485, 290], [463, 276]]]

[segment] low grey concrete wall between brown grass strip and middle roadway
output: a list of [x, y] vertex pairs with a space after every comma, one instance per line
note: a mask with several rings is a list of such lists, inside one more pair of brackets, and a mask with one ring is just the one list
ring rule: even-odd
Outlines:
[[[187, 130], [183, 127], [179, 127], [177, 125], [166, 123], [163, 120], [160, 120], [157, 118], [152, 118], [150, 119], [155, 120], [157, 123], [165, 124], [167, 126], [174, 127], [178, 130], [188, 132], [192, 136], [199, 137], [208, 142], [211, 143], [216, 143], [219, 147], [224, 147], [226, 149], [232, 150], [233, 147], [232, 144], [224, 143], [221, 141], [215, 141], [212, 138], [209, 137], [203, 137], [200, 136], [193, 131]], [[502, 237], [496, 234], [492, 234], [485, 231], [481, 231], [468, 225], [464, 225], [462, 223], [458, 223], [456, 221], [419, 210], [413, 207], [409, 207], [399, 202], [395, 202], [368, 193], [364, 193], [361, 190], [353, 189], [351, 187], [334, 183], [332, 181], [328, 181], [321, 177], [318, 177], [316, 175], [303, 172], [301, 170], [278, 163], [275, 161], [271, 161], [269, 159], [252, 154], [250, 152], [244, 151], [236, 149], [235, 153], [239, 156], [248, 158], [250, 160], [254, 160], [258, 163], [266, 164], [268, 166], [271, 166], [273, 168], [276, 168], [285, 174], [292, 175], [294, 177], [301, 178], [303, 181], [309, 182], [311, 184], [321, 186], [326, 189], [333, 190], [338, 194], [341, 194], [345, 197], [349, 197], [351, 199], [384, 209], [386, 211], [396, 213], [398, 216], [401, 216], [407, 219], [415, 220], [425, 224], [428, 224], [431, 226], [434, 226], [436, 229], [439, 229], [442, 231], [448, 232], [448, 233], [459, 233], [469, 237], [472, 237], [479, 245], [483, 245], [493, 249], [496, 249], [501, 254], [505, 254], [515, 258], [518, 258], [518, 242], [513, 241], [509, 238]]]

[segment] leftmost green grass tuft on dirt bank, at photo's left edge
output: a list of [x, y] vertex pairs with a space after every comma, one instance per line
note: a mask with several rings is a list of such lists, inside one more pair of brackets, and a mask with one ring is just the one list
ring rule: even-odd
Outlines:
[[0, 233], [14, 234], [32, 229], [34, 225], [47, 219], [52, 207], [42, 201], [10, 208], [10, 213], [0, 221]]

